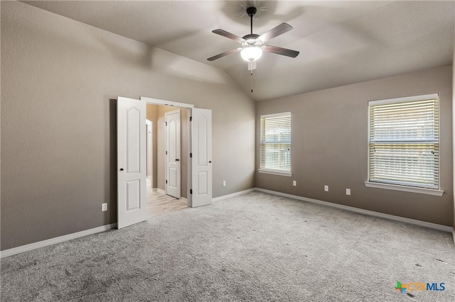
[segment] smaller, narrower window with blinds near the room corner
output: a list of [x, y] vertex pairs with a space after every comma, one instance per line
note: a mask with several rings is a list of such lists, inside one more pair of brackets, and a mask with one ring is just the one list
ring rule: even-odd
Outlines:
[[291, 113], [261, 116], [259, 172], [291, 176]]

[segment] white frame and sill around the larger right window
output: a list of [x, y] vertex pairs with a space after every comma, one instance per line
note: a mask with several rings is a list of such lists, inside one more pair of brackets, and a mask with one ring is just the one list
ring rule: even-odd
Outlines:
[[[387, 182], [377, 182], [377, 181], [370, 181], [370, 107], [371, 106], [378, 106], [378, 105], [387, 105], [387, 104], [399, 104], [399, 103], [405, 103], [405, 102], [410, 102], [410, 101], [424, 101], [424, 100], [429, 100], [429, 99], [437, 99], [439, 102], [439, 94], [421, 94], [417, 96], [405, 96], [405, 97], [400, 97], [400, 98], [394, 98], [394, 99], [382, 99], [382, 100], [377, 100], [377, 101], [369, 101], [368, 102], [368, 145], [367, 145], [367, 150], [368, 150], [368, 171], [367, 171], [367, 181], [365, 181], [365, 186], [372, 187], [372, 188], [378, 188], [378, 189], [390, 189], [390, 190], [395, 190], [395, 191], [406, 191], [406, 192], [412, 192], [412, 193], [418, 193], [418, 194], [429, 194], [429, 195], [434, 195], [434, 196], [442, 196], [444, 194], [444, 191], [441, 190], [441, 179], [438, 179], [438, 187], [437, 189], [431, 189], [431, 188], [424, 188], [424, 187], [419, 187], [419, 186], [407, 186], [406, 184], [394, 184], [394, 183], [387, 183]], [[439, 105], [439, 104], [438, 104]], [[440, 111], [440, 106], [438, 106], [438, 111]], [[440, 125], [440, 123], [439, 123]], [[438, 128], [439, 134], [441, 133], [440, 127]], [[441, 142], [440, 135], [438, 135], [438, 145]], [[438, 170], [440, 172], [441, 169], [441, 157], [439, 154], [438, 157]], [[439, 173], [440, 175], [440, 173]], [[404, 181], [405, 182], [405, 181]]]

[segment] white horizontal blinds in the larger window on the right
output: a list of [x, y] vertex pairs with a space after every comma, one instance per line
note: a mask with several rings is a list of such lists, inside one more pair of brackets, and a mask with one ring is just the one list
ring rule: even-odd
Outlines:
[[371, 101], [369, 181], [439, 189], [437, 94]]

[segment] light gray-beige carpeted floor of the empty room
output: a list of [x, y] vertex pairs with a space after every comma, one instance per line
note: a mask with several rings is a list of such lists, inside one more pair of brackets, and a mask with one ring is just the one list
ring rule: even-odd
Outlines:
[[252, 192], [2, 259], [1, 301], [455, 301], [455, 247], [449, 233]]

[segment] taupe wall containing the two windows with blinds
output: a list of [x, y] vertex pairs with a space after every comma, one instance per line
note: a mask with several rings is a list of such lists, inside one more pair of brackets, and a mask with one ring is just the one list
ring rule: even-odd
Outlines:
[[[439, 92], [441, 189], [430, 196], [367, 188], [368, 101]], [[401, 74], [256, 104], [256, 164], [259, 118], [292, 114], [292, 177], [256, 172], [256, 186], [355, 208], [441, 225], [454, 223], [452, 180], [452, 67]], [[292, 186], [292, 180], [297, 186]], [[329, 191], [324, 192], [327, 184]], [[346, 196], [346, 188], [351, 196]]]

